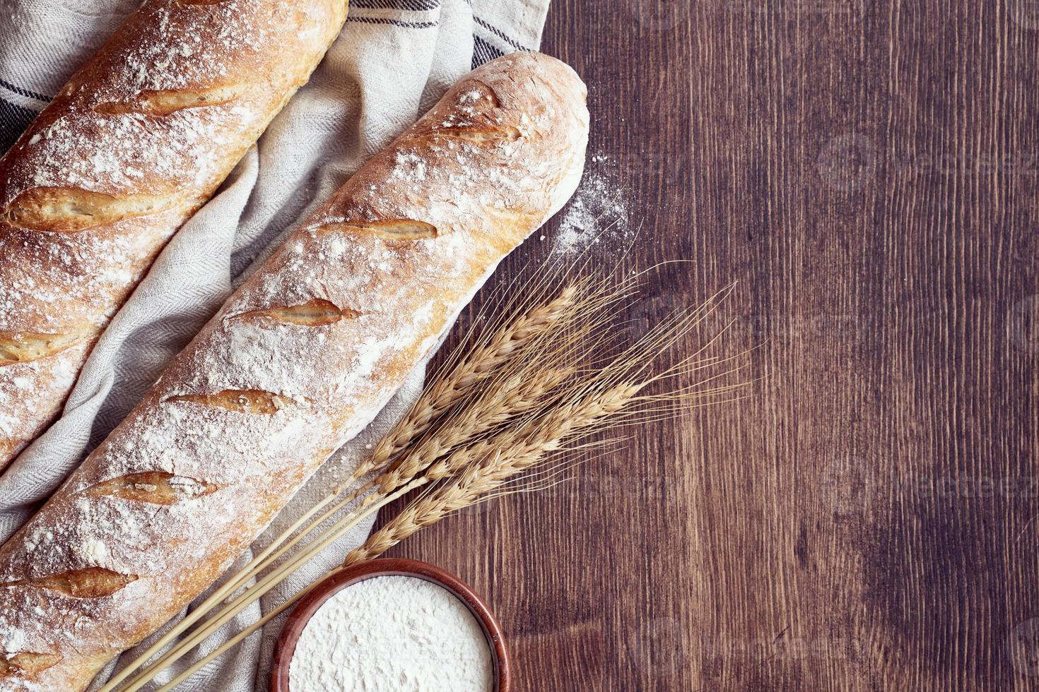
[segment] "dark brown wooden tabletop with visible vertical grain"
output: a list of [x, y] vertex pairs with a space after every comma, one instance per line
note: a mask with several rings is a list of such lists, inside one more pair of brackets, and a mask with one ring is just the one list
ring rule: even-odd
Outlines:
[[1039, 689], [1039, 3], [556, 0], [543, 48], [621, 270], [690, 260], [641, 314], [739, 281], [767, 380], [393, 554], [488, 597], [523, 691]]

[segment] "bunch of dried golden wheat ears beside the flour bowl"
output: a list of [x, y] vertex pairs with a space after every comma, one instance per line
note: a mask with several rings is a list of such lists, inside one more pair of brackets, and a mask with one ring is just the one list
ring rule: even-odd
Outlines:
[[[544, 286], [539, 289], [548, 292]], [[414, 500], [398, 517], [373, 534], [368, 542], [350, 553], [345, 564], [369, 559], [388, 550], [403, 538], [429, 526], [454, 511], [487, 497], [517, 492], [504, 486], [518, 475], [547, 460], [559, 458], [563, 452], [601, 446], [592, 442], [578, 447], [566, 445], [582, 435], [614, 424], [630, 424], [674, 416], [676, 413], [701, 405], [704, 397], [716, 397], [736, 387], [718, 387], [703, 391], [703, 386], [714, 378], [700, 380], [664, 394], [640, 394], [649, 385], [699, 369], [719, 365], [728, 359], [702, 357], [707, 347], [681, 360], [656, 376], [646, 376], [648, 362], [661, 352], [673, 347], [680, 339], [698, 328], [716, 308], [723, 296], [720, 293], [704, 306], [678, 313], [661, 321], [647, 334], [637, 339], [632, 348], [623, 350], [615, 359], [597, 366], [578, 368], [575, 362], [597, 347], [616, 338], [610, 315], [603, 308], [613, 306], [629, 295], [629, 285], [611, 287], [606, 282], [595, 284], [589, 280], [571, 282], [560, 294], [542, 305], [516, 310], [520, 316], [506, 326], [481, 335], [476, 347], [465, 358], [457, 357], [453, 369], [437, 372], [431, 380], [419, 405], [405, 417], [387, 440], [380, 442], [373, 459], [358, 470], [355, 477], [367, 475], [390, 465], [375, 480], [339, 499], [338, 491], [309, 513], [309, 518], [326, 507], [323, 515], [295, 534], [302, 520], [297, 522], [278, 542], [282, 547], [268, 548], [262, 560], [254, 560], [250, 569], [243, 571], [228, 584], [239, 586], [250, 579], [258, 581], [229, 600], [215, 614], [212, 611], [229, 591], [220, 589], [220, 599], [207, 600], [197, 620], [207, 619], [157, 661], [142, 669], [124, 692], [139, 690], [163, 667], [180, 659], [199, 644], [246, 606], [281, 583], [289, 574], [341, 536], [348, 527], [373, 514], [393, 499], [422, 487], [430, 490]], [[709, 344], [715, 343], [712, 339]], [[456, 352], [457, 353], [457, 352]], [[455, 358], [456, 356], [452, 356]], [[586, 358], [585, 358], [586, 359]], [[718, 377], [718, 376], [716, 376]], [[680, 406], [665, 410], [682, 397]], [[696, 402], [692, 404], [692, 402]], [[652, 405], [648, 408], [646, 405]], [[630, 410], [638, 406], [639, 411]], [[642, 416], [641, 418], [639, 418]], [[403, 452], [403, 453], [402, 453]], [[396, 463], [394, 459], [399, 458]], [[536, 488], [538, 476], [547, 474], [554, 479], [565, 471], [566, 465], [549, 468], [530, 480]], [[359, 493], [374, 488], [361, 506], [322, 529], [310, 546], [292, 553], [285, 562], [260, 574], [289, 552], [334, 514], [356, 499]], [[259, 558], [258, 558], [259, 559]], [[342, 568], [341, 568], [342, 569]], [[334, 574], [339, 570], [328, 574]], [[236, 587], [237, 588], [237, 587]], [[232, 589], [233, 591], [234, 589]], [[216, 648], [184, 673], [178, 675], [162, 690], [172, 689], [192, 672], [228, 651], [277, 613], [295, 603], [304, 591], [287, 600], [277, 609], [246, 628], [242, 633]], [[215, 596], [215, 594], [214, 594]], [[167, 635], [168, 644], [187, 626]], [[162, 645], [165, 645], [162, 644]], [[143, 657], [150, 658], [161, 645]], [[152, 651], [152, 649], [150, 649]], [[142, 659], [131, 664], [139, 665]], [[121, 673], [123, 680], [129, 672]], [[113, 681], [103, 688], [114, 690]]]

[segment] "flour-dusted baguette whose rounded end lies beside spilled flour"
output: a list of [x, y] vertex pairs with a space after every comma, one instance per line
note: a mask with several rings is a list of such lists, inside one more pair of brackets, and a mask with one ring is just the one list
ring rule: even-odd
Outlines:
[[499, 58], [308, 218], [0, 548], [0, 690], [82, 689], [227, 570], [572, 194], [587, 133], [574, 71]]

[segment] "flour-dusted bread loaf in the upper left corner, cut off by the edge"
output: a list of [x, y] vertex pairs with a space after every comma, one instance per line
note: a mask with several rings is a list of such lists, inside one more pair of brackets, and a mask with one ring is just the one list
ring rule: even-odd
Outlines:
[[0, 159], [0, 471], [336, 38], [347, 0], [149, 0]]

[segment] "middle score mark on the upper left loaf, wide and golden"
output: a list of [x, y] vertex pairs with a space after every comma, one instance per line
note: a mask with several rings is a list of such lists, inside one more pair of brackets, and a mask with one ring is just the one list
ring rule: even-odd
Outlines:
[[0, 220], [29, 230], [75, 233], [172, 209], [172, 195], [134, 194], [125, 197], [79, 188], [39, 187], [26, 190], [7, 205]]

